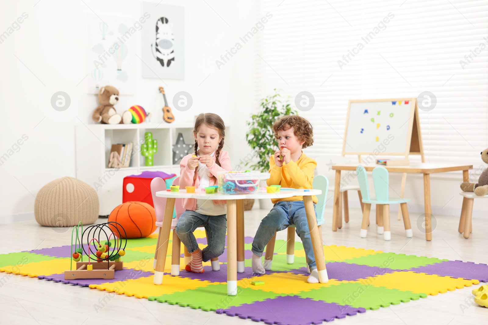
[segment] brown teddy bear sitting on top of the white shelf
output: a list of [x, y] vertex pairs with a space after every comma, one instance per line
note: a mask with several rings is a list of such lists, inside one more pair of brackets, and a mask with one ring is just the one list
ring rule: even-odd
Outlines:
[[119, 91], [112, 86], [105, 86], [98, 92], [99, 107], [95, 109], [92, 119], [102, 124], [127, 124], [132, 120], [132, 114], [125, 111], [117, 114], [114, 105], [119, 101]]

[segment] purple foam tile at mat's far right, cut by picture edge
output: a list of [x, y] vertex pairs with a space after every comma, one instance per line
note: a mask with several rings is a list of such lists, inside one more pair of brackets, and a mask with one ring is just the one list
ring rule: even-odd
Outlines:
[[468, 280], [476, 279], [480, 282], [488, 282], [488, 266], [481, 263], [475, 264], [473, 262], [463, 261], [444, 261], [423, 267], [405, 269], [404, 271], [450, 276]]

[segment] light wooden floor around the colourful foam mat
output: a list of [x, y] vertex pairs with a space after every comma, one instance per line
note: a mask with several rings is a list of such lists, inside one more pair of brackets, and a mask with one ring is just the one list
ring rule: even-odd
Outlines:
[[[254, 236], [266, 212], [257, 209], [245, 212], [246, 236]], [[488, 262], [487, 238], [484, 235], [484, 230], [488, 229], [488, 220], [474, 220], [471, 237], [464, 239], [457, 232], [458, 217], [436, 216], [437, 227], [433, 232], [433, 240], [426, 242], [425, 234], [417, 228], [418, 214], [410, 216], [414, 235], [410, 240], [405, 237], [402, 222], [396, 220], [396, 213], [392, 213], [391, 241], [385, 242], [382, 235], [376, 234], [374, 211], [366, 239], [359, 237], [361, 210], [352, 209], [349, 223], [337, 232], [331, 230], [332, 210], [326, 209], [325, 215], [329, 216], [322, 226], [326, 245], [380, 249], [475, 263]], [[35, 221], [0, 225], [0, 253], [69, 245], [70, 235], [71, 231], [59, 233], [52, 228], [41, 227]], [[281, 231], [278, 238], [285, 239], [286, 231]], [[0, 273], [0, 281], [5, 275]], [[116, 295], [108, 300], [106, 291], [26, 276], [7, 276], [5, 280], [7, 283], [0, 287], [0, 324], [251, 324], [251, 320], [124, 295]], [[488, 324], [488, 308], [471, 305], [471, 290], [474, 287], [479, 285], [388, 308], [368, 310], [365, 314], [336, 319], [334, 324]], [[97, 313], [94, 305], [100, 304], [99, 300], [104, 298], [107, 304]]]

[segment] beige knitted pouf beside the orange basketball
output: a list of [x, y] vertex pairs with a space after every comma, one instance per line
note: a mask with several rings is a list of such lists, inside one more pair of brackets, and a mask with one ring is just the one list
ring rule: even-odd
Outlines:
[[70, 227], [83, 225], [98, 218], [97, 192], [88, 184], [63, 177], [47, 183], [36, 196], [34, 215], [42, 226]]

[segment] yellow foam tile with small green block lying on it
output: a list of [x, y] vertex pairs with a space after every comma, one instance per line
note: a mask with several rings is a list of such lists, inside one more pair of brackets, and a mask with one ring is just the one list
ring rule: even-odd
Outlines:
[[[293, 294], [300, 291], [318, 289], [320, 287], [336, 286], [347, 281], [337, 281], [330, 279], [327, 283], [308, 283], [307, 276], [294, 273], [273, 273], [261, 275], [259, 277], [242, 279], [238, 281], [239, 287], [248, 287], [254, 290], [263, 290], [267, 292]], [[251, 281], [263, 281], [263, 286], [253, 286]]]

